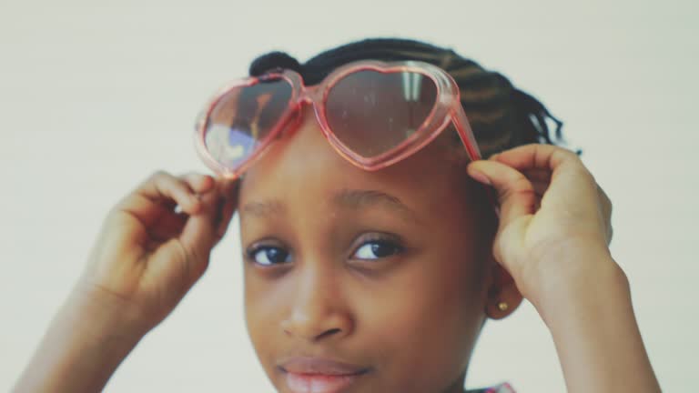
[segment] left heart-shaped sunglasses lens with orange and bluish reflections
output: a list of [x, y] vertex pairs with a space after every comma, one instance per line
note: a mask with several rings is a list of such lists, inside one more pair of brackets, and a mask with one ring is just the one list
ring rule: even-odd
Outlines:
[[209, 155], [235, 169], [279, 125], [289, 106], [292, 87], [285, 79], [258, 81], [233, 88], [211, 109], [204, 140]]

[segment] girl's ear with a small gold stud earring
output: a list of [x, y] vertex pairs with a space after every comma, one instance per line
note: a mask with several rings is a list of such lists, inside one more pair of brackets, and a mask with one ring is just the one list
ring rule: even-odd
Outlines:
[[490, 280], [485, 299], [485, 315], [491, 319], [502, 319], [522, 304], [522, 294], [504, 267], [491, 257]]

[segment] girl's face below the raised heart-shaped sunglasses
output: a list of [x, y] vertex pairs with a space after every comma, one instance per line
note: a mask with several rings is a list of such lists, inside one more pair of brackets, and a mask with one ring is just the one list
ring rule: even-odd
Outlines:
[[493, 271], [452, 136], [378, 172], [309, 108], [240, 190], [248, 332], [282, 392], [461, 392]]

